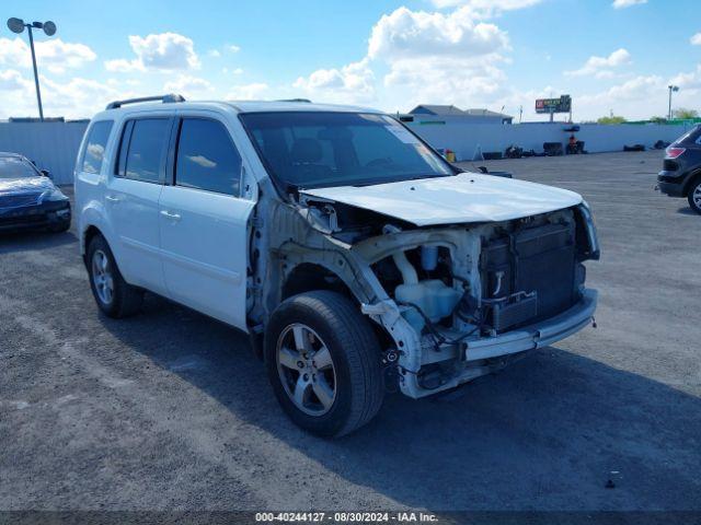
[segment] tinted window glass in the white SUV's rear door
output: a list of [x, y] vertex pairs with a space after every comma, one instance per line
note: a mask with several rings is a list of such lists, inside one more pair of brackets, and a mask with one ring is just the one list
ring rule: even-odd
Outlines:
[[164, 174], [168, 118], [127, 121], [122, 135], [117, 175], [145, 183], [160, 183]]

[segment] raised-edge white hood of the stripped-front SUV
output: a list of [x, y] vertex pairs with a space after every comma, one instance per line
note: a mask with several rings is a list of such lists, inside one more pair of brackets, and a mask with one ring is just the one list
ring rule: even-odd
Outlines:
[[582, 202], [581, 195], [566, 189], [473, 173], [374, 186], [307, 189], [302, 194], [376, 211], [417, 226], [508, 221]]

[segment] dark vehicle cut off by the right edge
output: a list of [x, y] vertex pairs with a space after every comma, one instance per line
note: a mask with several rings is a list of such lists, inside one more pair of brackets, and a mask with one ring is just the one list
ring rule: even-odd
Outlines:
[[675, 140], [665, 150], [657, 188], [669, 197], [686, 197], [701, 214], [701, 126]]

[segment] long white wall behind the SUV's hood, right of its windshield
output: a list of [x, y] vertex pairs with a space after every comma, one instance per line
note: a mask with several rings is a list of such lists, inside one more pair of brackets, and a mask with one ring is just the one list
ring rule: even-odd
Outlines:
[[[448, 148], [456, 152], [458, 160], [472, 160], [478, 147], [482, 152], [501, 151], [512, 144], [525, 150], [543, 151], [543, 142], [562, 142], [563, 148], [570, 139], [564, 129], [566, 124], [456, 124], [421, 125], [407, 122], [424, 140], [434, 148]], [[625, 144], [644, 144], [651, 148], [657, 140], [674, 141], [690, 126], [665, 125], [579, 125], [575, 132], [577, 140], [584, 140], [585, 149], [590, 153], [621, 151]]]

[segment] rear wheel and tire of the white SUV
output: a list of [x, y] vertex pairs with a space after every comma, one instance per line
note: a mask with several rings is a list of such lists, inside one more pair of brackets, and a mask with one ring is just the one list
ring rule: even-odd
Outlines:
[[96, 235], [90, 242], [87, 262], [92, 294], [105, 315], [122, 318], [140, 310], [143, 291], [124, 280], [102, 235]]

